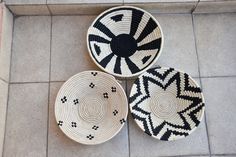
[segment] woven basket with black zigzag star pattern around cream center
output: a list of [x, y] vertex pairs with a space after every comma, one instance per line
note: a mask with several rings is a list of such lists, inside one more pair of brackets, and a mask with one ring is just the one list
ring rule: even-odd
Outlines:
[[138, 126], [165, 141], [191, 134], [205, 109], [197, 83], [173, 68], [153, 68], [139, 76], [132, 86], [129, 105]]

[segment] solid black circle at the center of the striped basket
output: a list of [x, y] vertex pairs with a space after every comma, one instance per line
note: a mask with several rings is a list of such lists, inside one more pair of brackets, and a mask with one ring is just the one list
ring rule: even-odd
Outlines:
[[111, 40], [111, 50], [119, 57], [132, 56], [137, 49], [137, 42], [129, 34], [120, 34]]

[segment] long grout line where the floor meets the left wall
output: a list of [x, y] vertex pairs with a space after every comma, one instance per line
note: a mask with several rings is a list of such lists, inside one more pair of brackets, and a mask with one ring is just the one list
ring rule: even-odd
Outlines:
[[[14, 31], [15, 31], [15, 16], [13, 16], [13, 26], [12, 26], [12, 40], [11, 40], [9, 81], [11, 80], [12, 56], [13, 56], [13, 55], [12, 55], [12, 52], [13, 52], [12, 50], [13, 50]], [[6, 105], [6, 110], [5, 110], [5, 111], [6, 111], [6, 115], [5, 115], [5, 128], [4, 128], [4, 136], [3, 136], [2, 156], [4, 156], [5, 146], [6, 146], [7, 114], [8, 114], [9, 98], [10, 98], [10, 83], [8, 83], [7, 105]]]

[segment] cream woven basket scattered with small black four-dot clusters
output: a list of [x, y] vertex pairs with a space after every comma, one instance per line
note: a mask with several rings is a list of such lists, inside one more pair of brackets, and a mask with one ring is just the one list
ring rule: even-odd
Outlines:
[[82, 144], [99, 144], [114, 137], [123, 127], [128, 102], [122, 86], [98, 71], [85, 71], [63, 84], [55, 102], [58, 126]]

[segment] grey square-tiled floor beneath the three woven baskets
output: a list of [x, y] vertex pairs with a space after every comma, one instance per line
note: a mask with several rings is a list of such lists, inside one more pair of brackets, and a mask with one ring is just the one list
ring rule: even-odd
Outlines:
[[[3, 157], [236, 156], [236, 14], [158, 14], [165, 45], [156, 65], [190, 73], [202, 86], [205, 119], [186, 139], [157, 141], [129, 116], [112, 140], [84, 146], [68, 139], [54, 118], [56, 94], [71, 75], [98, 69], [86, 31], [95, 16], [15, 18]], [[129, 94], [133, 80], [122, 80]]]

